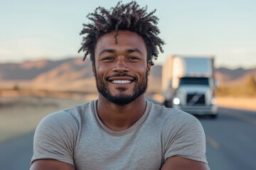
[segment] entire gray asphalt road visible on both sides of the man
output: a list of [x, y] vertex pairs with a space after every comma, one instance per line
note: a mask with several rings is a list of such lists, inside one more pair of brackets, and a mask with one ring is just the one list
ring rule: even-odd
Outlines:
[[[206, 132], [211, 170], [256, 169], [256, 112], [220, 108], [217, 119], [198, 119]], [[29, 169], [32, 143], [33, 133], [1, 143], [0, 169]]]

